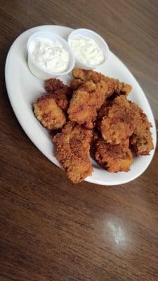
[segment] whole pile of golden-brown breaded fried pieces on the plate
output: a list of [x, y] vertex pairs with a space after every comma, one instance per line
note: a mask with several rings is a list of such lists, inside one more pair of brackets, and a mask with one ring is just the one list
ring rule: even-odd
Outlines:
[[133, 155], [153, 149], [147, 116], [127, 99], [131, 86], [93, 70], [74, 69], [70, 86], [59, 79], [33, 105], [34, 115], [50, 131], [56, 158], [74, 183], [93, 167], [90, 153], [103, 169], [129, 171]]

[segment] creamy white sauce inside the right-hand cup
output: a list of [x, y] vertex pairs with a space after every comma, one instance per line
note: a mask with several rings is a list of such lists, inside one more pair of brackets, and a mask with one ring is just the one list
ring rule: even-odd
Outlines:
[[104, 61], [103, 51], [96, 42], [88, 37], [77, 35], [70, 40], [76, 58], [86, 65], [99, 65]]

